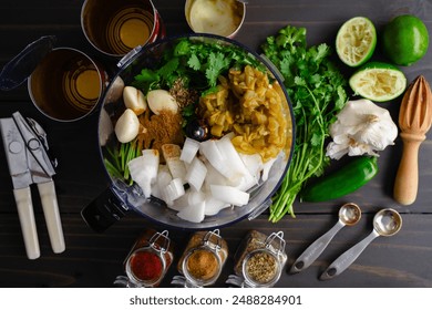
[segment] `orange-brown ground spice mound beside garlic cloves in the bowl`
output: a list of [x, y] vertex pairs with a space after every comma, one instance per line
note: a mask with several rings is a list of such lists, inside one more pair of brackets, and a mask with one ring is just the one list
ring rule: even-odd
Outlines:
[[157, 149], [162, 154], [162, 145], [183, 145], [184, 136], [182, 132], [183, 117], [179, 113], [163, 110], [158, 115], [150, 115], [150, 111], [140, 115], [140, 134], [137, 136], [140, 145], [144, 149]]

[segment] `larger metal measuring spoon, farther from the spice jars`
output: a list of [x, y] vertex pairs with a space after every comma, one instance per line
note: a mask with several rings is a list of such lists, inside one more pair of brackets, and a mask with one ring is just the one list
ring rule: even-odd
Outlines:
[[402, 227], [401, 215], [393, 209], [382, 209], [373, 217], [373, 230], [363, 240], [339, 256], [321, 275], [320, 280], [330, 280], [342, 273], [377, 237], [390, 237], [395, 235]]

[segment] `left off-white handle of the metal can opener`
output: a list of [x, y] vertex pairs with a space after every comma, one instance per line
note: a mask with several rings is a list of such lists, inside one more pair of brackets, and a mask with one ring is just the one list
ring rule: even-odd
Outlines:
[[18, 216], [20, 218], [27, 257], [29, 259], [37, 259], [40, 257], [41, 252], [39, 249], [38, 231], [34, 221], [30, 187], [13, 189], [13, 196], [17, 202]]

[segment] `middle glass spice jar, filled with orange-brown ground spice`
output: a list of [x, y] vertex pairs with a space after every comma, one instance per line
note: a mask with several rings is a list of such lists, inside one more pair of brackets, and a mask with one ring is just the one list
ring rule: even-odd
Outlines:
[[177, 269], [184, 277], [174, 277], [175, 285], [205, 287], [216, 282], [228, 257], [228, 245], [219, 229], [195, 232], [182, 257]]

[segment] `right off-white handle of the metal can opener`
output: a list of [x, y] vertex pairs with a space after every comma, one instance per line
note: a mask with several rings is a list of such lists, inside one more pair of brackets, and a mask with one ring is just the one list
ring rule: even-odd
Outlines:
[[65, 245], [54, 183], [52, 180], [39, 183], [38, 189], [42, 200], [42, 208], [45, 216], [52, 250], [55, 254], [62, 252], [65, 249]]

